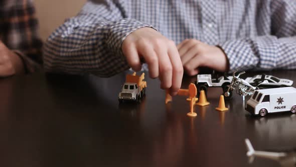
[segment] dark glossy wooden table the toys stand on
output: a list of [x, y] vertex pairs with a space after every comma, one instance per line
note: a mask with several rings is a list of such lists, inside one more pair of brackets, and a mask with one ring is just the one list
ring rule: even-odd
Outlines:
[[[296, 80], [296, 71], [267, 72]], [[254, 73], [249, 73], [254, 74]], [[186, 97], [164, 103], [159, 80], [147, 75], [139, 105], [117, 101], [124, 74], [35, 73], [0, 80], [0, 166], [279, 166], [248, 163], [244, 139], [255, 149], [296, 146], [296, 115], [252, 117], [242, 98], [214, 110], [222, 89], [208, 91], [206, 107], [190, 118]], [[183, 88], [196, 77], [184, 79]]]

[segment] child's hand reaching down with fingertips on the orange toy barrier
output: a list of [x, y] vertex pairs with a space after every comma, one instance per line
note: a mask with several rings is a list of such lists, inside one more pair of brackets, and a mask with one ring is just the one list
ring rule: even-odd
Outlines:
[[138, 71], [143, 58], [152, 78], [159, 77], [162, 89], [172, 96], [181, 87], [183, 66], [175, 43], [152, 28], [140, 28], [129, 34], [122, 43], [122, 52], [129, 66]]

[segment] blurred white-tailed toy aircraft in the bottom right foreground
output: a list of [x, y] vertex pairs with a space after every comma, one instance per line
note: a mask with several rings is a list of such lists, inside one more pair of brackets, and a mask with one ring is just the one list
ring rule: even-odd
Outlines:
[[281, 166], [296, 166], [296, 149], [282, 149], [279, 152], [256, 151], [249, 139], [245, 139], [245, 143], [248, 149], [247, 156], [249, 157], [249, 163], [252, 163], [254, 157], [258, 156], [276, 160]]

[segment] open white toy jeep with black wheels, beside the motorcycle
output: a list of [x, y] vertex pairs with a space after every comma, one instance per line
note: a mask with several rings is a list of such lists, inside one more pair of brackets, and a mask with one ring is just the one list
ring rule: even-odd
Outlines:
[[[214, 77], [212, 74], [198, 74], [197, 81], [195, 82], [198, 95], [201, 90], [204, 90], [205, 93], [207, 93], [209, 87], [221, 87], [224, 95], [224, 93], [228, 90], [232, 78], [232, 76], [227, 76], [226, 74], [220, 77]], [[225, 98], [225, 100], [228, 100], [227, 97]]]

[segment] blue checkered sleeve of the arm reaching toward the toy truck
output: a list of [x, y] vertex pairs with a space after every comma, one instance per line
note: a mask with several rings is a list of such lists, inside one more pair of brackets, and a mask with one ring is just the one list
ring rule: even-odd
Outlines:
[[120, 4], [113, 1], [87, 2], [47, 40], [45, 70], [108, 77], [128, 69], [121, 51], [123, 40], [131, 32], [151, 26], [125, 19], [123, 14]]

